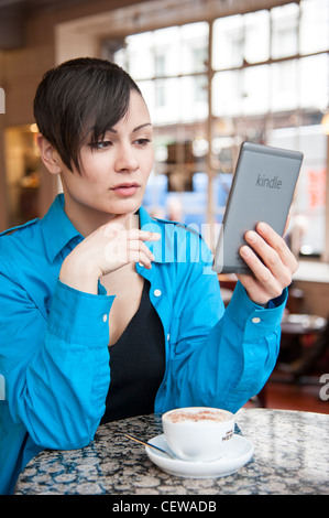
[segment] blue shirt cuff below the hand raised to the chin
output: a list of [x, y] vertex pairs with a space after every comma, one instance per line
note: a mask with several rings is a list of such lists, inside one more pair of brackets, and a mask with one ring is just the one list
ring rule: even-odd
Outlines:
[[109, 343], [109, 313], [114, 296], [85, 293], [57, 280], [48, 332], [69, 343], [102, 347]]

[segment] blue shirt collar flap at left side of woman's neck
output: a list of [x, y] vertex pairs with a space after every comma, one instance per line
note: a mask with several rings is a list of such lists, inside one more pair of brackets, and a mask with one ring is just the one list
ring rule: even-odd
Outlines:
[[83, 236], [74, 227], [64, 211], [64, 195], [58, 194], [48, 212], [42, 219], [42, 229], [46, 253], [51, 262], [74, 238], [83, 240]]

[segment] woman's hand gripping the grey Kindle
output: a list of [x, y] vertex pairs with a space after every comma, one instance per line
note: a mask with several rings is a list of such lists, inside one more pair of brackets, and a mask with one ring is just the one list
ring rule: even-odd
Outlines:
[[298, 263], [285, 240], [265, 223], [260, 223], [256, 231], [249, 230], [244, 238], [249, 246], [241, 247], [240, 255], [253, 274], [237, 277], [250, 299], [264, 305], [292, 283]]

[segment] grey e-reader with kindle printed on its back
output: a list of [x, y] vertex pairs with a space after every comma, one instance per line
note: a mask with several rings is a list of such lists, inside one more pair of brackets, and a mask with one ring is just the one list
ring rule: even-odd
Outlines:
[[250, 273], [239, 250], [244, 235], [267, 223], [283, 235], [293, 201], [303, 153], [244, 142], [226, 205], [215, 251], [218, 273]]

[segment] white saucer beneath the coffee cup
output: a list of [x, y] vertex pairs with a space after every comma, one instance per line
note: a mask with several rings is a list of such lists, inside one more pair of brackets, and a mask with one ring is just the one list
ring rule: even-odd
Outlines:
[[[156, 435], [149, 442], [171, 453], [164, 434]], [[251, 460], [254, 447], [249, 439], [234, 434], [229, 441], [223, 455], [212, 462], [188, 462], [169, 458], [164, 453], [147, 446], [145, 446], [145, 451], [154, 464], [171, 475], [186, 478], [217, 478], [231, 475], [244, 466]]]

